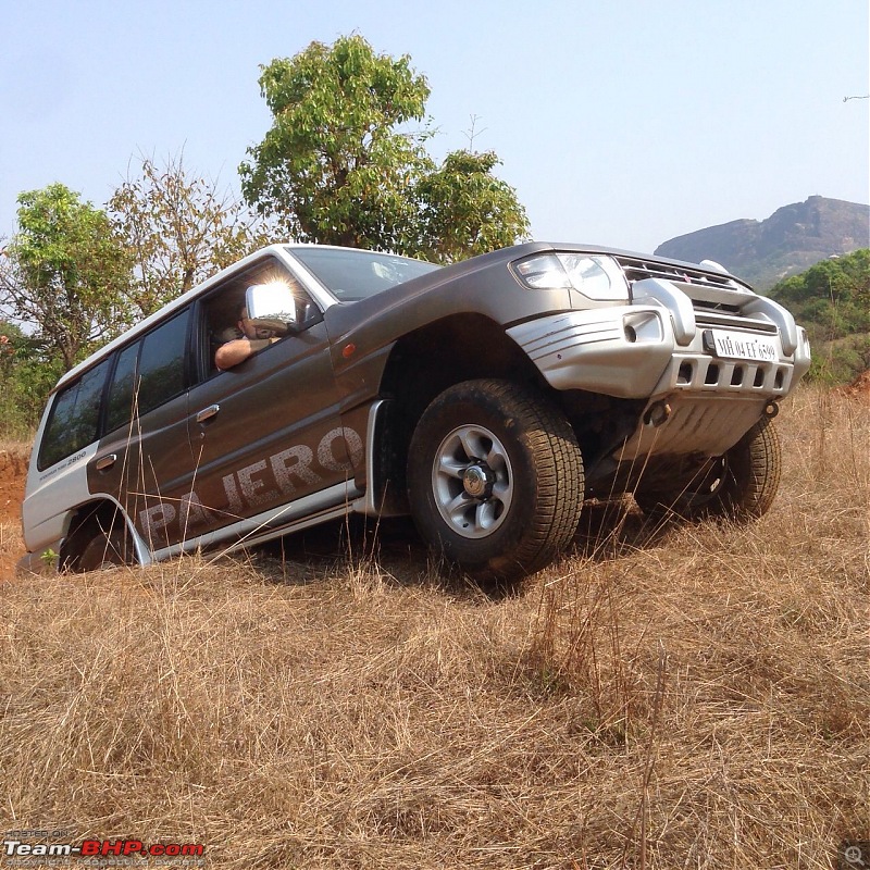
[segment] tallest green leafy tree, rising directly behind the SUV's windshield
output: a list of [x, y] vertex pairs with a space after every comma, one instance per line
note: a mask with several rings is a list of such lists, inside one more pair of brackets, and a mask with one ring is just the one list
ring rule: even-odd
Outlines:
[[409, 198], [431, 165], [421, 121], [428, 85], [402, 57], [377, 55], [360, 36], [312, 42], [263, 67], [260, 90], [274, 115], [239, 167], [251, 206], [300, 241], [407, 247]]

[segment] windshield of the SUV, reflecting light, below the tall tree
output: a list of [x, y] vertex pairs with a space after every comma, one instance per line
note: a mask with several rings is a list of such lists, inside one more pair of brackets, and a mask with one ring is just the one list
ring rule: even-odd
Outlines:
[[288, 247], [314, 277], [343, 302], [366, 299], [440, 266], [408, 257], [345, 248]]

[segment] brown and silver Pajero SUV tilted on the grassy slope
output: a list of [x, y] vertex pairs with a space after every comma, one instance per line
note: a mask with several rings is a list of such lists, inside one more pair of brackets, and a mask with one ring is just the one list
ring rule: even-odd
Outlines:
[[[221, 371], [240, 326], [250, 355]], [[711, 262], [532, 243], [438, 268], [275, 245], [61, 378], [24, 567], [410, 513], [461, 570], [511, 580], [569, 544], [591, 497], [757, 517], [776, 401], [809, 360], [791, 314]]]

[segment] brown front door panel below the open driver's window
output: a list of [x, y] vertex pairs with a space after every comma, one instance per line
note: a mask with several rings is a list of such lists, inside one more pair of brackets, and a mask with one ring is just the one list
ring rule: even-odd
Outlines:
[[313, 493], [340, 500], [351, 474], [322, 319], [195, 387], [188, 422], [190, 533], [284, 524]]

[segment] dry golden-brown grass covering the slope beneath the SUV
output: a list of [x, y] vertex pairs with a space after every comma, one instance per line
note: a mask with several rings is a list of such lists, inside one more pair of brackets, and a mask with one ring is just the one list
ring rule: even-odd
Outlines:
[[0, 586], [3, 830], [245, 870], [828, 870], [870, 838], [870, 408], [780, 423], [754, 526], [599, 508], [512, 598], [387, 535]]

